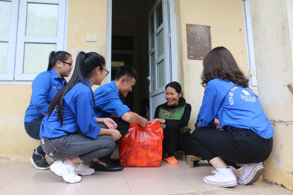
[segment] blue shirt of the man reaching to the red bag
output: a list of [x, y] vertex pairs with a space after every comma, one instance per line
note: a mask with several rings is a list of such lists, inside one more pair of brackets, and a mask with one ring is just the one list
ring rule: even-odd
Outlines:
[[120, 100], [118, 88], [114, 81], [101, 85], [94, 92], [96, 98], [96, 117], [111, 118], [116, 114], [118, 118], [130, 111], [128, 106]]

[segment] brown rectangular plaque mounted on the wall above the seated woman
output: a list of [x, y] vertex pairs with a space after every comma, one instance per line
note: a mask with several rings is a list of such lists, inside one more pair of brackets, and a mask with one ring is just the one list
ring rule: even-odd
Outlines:
[[190, 60], [204, 60], [212, 50], [211, 27], [186, 24], [187, 55]]

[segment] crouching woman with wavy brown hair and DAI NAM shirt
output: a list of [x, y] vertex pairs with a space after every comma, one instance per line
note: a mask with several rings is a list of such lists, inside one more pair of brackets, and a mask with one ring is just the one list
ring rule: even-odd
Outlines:
[[[194, 150], [216, 168], [204, 182], [220, 187], [256, 182], [265, 170], [260, 162], [269, 157], [274, 135], [258, 96], [222, 46], [205, 57], [201, 80], [205, 93], [191, 137]], [[223, 130], [216, 129], [216, 118]], [[236, 179], [228, 165], [243, 166], [242, 176]]]

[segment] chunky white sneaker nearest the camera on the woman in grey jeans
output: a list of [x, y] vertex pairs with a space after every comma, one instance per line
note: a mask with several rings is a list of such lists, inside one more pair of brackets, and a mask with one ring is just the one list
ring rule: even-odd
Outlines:
[[50, 166], [50, 170], [71, 184], [80, 182], [81, 180], [81, 177], [74, 173], [74, 165], [65, 165], [62, 161], [55, 161]]

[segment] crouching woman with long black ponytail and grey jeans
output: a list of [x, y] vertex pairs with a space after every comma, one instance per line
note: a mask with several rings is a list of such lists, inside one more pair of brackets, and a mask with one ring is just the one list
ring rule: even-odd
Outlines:
[[[113, 151], [115, 140], [121, 137], [112, 119], [96, 118], [94, 112], [91, 87], [100, 85], [106, 72], [103, 56], [81, 51], [70, 81], [54, 96], [42, 121], [42, 148], [56, 160], [50, 169], [67, 182], [76, 183], [81, 180], [79, 175], [91, 175], [94, 169], [83, 162], [93, 159], [103, 163], [98, 158]], [[100, 128], [97, 122], [109, 129]]]

